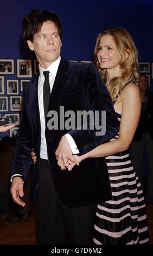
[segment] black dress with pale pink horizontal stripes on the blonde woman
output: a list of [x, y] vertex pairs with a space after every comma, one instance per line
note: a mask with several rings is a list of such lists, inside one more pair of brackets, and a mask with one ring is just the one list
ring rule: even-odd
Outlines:
[[[117, 113], [120, 121], [121, 115]], [[112, 140], [117, 139], [118, 135]], [[97, 245], [149, 243], [141, 183], [128, 151], [106, 157], [112, 199], [98, 204], [94, 225]]]

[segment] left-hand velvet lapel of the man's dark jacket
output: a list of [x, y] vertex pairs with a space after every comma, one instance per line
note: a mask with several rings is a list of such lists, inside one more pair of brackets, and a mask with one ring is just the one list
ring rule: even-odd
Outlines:
[[34, 80], [31, 82], [30, 86], [30, 105], [31, 111], [33, 113], [33, 121], [35, 130], [37, 133], [40, 131], [40, 113], [39, 113], [39, 102], [38, 102], [38, 80], [39, 80], [39, 72]]

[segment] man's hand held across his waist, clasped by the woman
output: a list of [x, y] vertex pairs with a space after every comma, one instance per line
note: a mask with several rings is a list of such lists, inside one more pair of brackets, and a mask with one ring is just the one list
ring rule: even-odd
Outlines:
[[66, 136], [62, 136], [58, 148], [55, 151], [56, 159], [58, 160], [58, 165], [61, 167], [61, 170], [65, 170], [65, 163], [70, 160], [71, 162], [79, 165], [79, 162], [73, 157], [71, 148], [69, 147], [68, 140]]

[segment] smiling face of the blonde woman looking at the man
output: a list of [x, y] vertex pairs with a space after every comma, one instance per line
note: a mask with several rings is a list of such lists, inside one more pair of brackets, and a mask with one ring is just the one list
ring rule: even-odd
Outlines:
[[120, 69], [122, 59], [111, 35], [103, 35], [98, 45], [97, 57], [101, 69]]

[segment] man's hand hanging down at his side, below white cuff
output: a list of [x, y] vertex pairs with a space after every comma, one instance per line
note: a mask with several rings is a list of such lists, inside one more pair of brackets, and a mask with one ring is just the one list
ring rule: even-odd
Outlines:
[[20, 197], [24, 196], [23, 192], [23, 180], [20, 177], [14, 177], [12, 179], [12, 185], [11, 185], [11, 195], [12, 199], [16, 204], [19, 204], [21, 206], [25, 206], [25, 203], [20, 199]]

